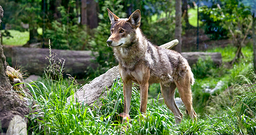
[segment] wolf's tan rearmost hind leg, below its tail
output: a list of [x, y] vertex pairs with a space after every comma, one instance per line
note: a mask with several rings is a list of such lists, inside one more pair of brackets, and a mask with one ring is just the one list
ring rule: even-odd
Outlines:
[[181, 100], [186, 107], [186, 112], [192, 117], [192, 120], [196, 119], [196, 112], [193, 109], [192, 105], [192, 92], [191, 92], [191, 77], [186, 75], [180, 78], [179, 81], [176, 81], [175, 84], [178, 88]]

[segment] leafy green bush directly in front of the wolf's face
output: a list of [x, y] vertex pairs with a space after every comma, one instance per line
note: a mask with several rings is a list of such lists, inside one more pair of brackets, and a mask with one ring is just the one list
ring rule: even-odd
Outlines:
[[[89, 44], [91, 50], [94, 52], [96, 57], [96, 62], [105, 67], [102, 72], [107, 71], [109, 68], [117, 65], [115, 61], [113, 51], [110, 47], [106, 45], [106, 41], [110, 34], [110, 20], [107, 12], [107, 8], [113, 11], [120, 18], [125, 18], [126, 13], [123, 11], [124, 6], [120, 4], [121, 0], [105, 0], [101, 8], [102, 14], [98, 17], [101, 19], [99, 26], [94, 30], [94, 37], [90, 40]], [[117, 5], [113, 7], [112, 5]]]

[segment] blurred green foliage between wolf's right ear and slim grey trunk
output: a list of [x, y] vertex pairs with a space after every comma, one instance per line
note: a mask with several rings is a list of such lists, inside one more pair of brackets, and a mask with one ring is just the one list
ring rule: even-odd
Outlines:
[[[174, 38], [175, 31], [175, 2], [158, 1], [158, 9], [153, 15], [142, 15], [141, 30], [155, 45], [165, 44]], [[165, 5], [165, 6], [163, 6]]]

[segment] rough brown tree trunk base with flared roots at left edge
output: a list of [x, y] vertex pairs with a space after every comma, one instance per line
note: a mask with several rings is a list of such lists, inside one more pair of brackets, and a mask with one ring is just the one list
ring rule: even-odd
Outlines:
[[[3, 8], [0, 6], [0, 22], [3, 17], [3, 12]], [[24, 115], [29, 114], [29, 109], [26, 106], [26, 102], [22, 100], [19, 94], [11, 91], [11, 84], [6, 69], [7, 64], [3, 46], [0, 43], [0, 132], [7, 132], [7, 135], [19, 135], [20, 133], [26, 135], [26, 117], [24, 117]], [[16, 126], [20, 121], [14, 119], [15, 116], [22, 118], [19, 119], [23, 121], [21, 126]], [[14, 123], [15, 126], [9, 126], [10, 123]]]

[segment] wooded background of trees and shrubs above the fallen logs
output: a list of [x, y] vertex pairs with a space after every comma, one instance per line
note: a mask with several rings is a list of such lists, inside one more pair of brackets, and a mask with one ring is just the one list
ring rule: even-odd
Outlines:
[[[192, 16], [191, 13], [188, 14], [188, 10], [194, 7], [193, 0], [177, 2], [179, 3], [168, 0], [1, 0], [5, 15], [4, 25], [0, 29], [6, 29], [4, 36], [11, 36], [8, 29], [29, 31], [28, 44], [51, 39], [54, 49], [93, 50], [100, 65], [113, 67], [116, 61], [112, 50], [105, 45], [110, 28], [106, 8], [122, 18], [140, 9], [140, 28], [151, 42], [162, 45], [178, 38], [178, 52], [182, 48], [192, 50], [188, 48], [192, 48], [194, 43], [187, 45], [191, 39], [187, 38], [182, 45], [181, 37], [184, 34], [187, 37], [196, 35], [193, 32], [195, 27], [188, 21], [188, 17]], [[232, 63], [243, 56], [241, 48], [245, 46], [248, 37], [253, 37], [254, 3], [253, 0], [200, 1], [200, 20], [203, 22], [200, 33], [207, 34], [213, 40], [232, 39], [237, 46], [237, 55]], [[26, 24], [28, 27], [25, 27]]]

